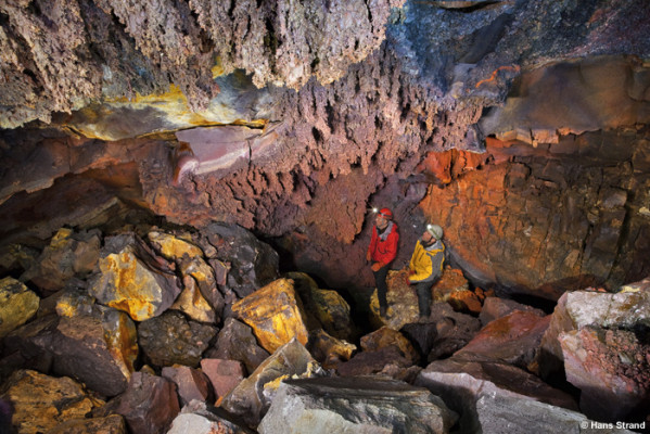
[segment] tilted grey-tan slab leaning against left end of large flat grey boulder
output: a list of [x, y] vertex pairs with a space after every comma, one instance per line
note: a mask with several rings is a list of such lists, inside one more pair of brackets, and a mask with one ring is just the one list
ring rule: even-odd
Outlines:
[[315, 373], [318, 373], [318, 363], [303, 344], [293, 339], [239, 383], [224, 398], [221, 407], [242, 417], [250, 425], [256, 425], [268, 409], [282, 380], [294, 375], [313, 376]]

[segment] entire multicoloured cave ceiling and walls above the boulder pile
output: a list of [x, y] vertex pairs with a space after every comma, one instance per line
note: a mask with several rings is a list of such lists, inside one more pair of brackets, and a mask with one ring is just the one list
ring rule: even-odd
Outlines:
[[5, 0], [0, 68], [5, 240], [117, 201], [349, 285], [386, 204], [476, 282], [650, 271], [646, 0]]

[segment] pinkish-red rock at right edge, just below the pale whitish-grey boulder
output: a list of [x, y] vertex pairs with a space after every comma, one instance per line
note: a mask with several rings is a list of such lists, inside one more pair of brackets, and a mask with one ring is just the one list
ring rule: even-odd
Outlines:
[[[650, 335], [646, 336], [650, 337]], [[560, 334], [566, 380], [581, 410], [604, 421], [646, 416], [650, 407], [650, 344], [634, 332], [586, 326]]]

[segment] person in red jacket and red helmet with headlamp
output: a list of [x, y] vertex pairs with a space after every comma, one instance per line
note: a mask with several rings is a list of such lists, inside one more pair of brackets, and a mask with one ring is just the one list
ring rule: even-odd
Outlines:
[[388, 208], [382, 208], [374, 217], [372, 227], [372, 238], [366, 253], [366, 259], [372, 261], [372, 273], [374, 275], [374, 284], [377, 285], [377, 297], [379, 299], [379, 314], [384, 317], [388, 308], [386, 301], [386, 276], [388, 266], [397, 255], [397, 225], [393, 221], [393, 213]]

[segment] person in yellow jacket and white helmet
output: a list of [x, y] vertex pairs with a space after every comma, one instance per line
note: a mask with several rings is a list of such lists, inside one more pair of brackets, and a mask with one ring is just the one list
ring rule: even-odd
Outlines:
[[443, 276], [445, 245], [442, 238], [443, 228], [437, 225], [426, 225], [426, 230], [418, 240], [409, 264], [406, 283], [416, 285], [420, 319], [429, 318], [431, 315], [431, 288]]

